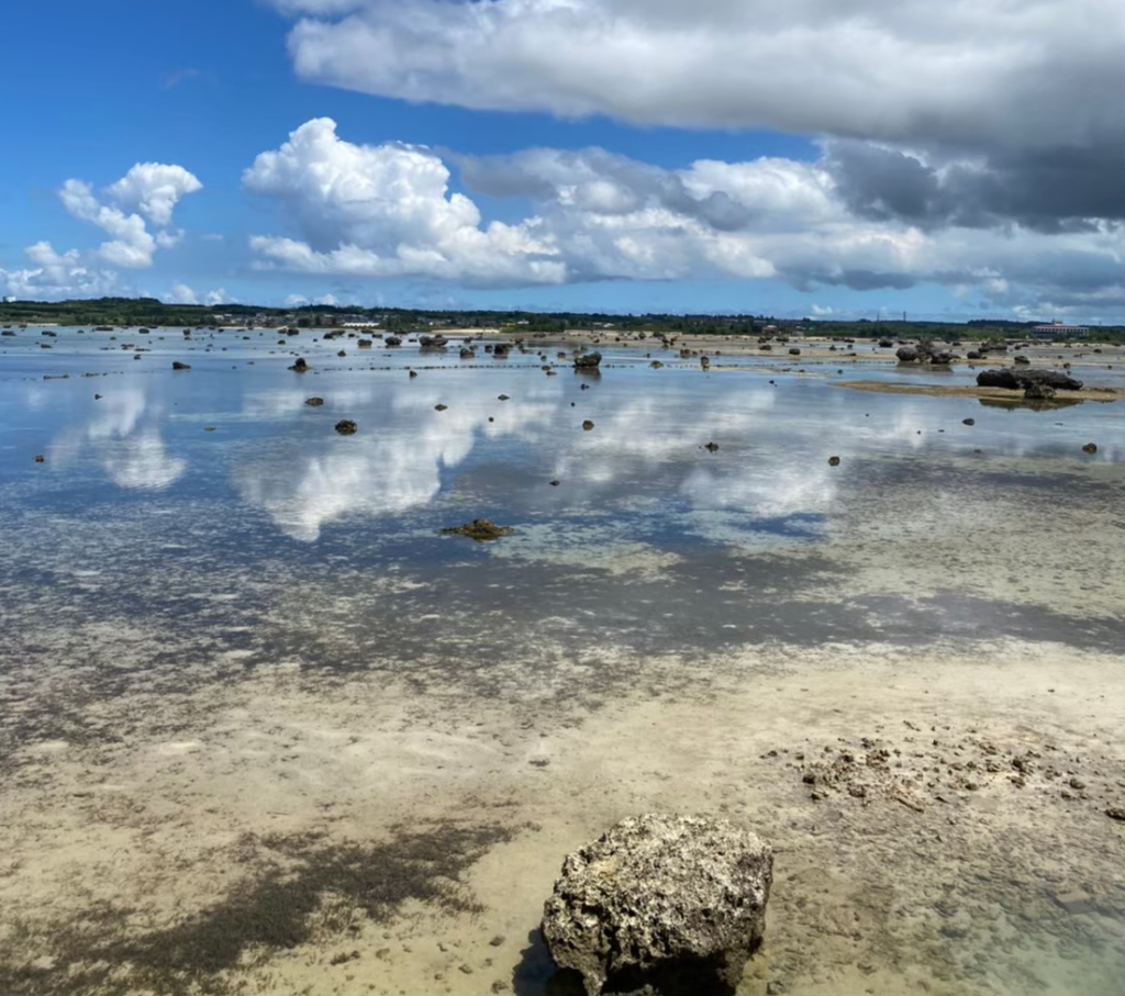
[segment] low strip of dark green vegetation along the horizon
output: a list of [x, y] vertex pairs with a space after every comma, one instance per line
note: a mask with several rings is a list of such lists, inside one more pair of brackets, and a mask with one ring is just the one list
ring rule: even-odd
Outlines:
[[[256, 305], [165, 305], [155, 298], [93, 298], [71, 301], [0, 301], [0, 324], [57, 325], [253, 325], [271, 327], [335, 326], [343, 322], [371, 322], [387, 331], [438, 328], [506, 328], [561, 333], [567, 329], [605, 329], [608, 333], [652, 332], [687, 335], [758, 335], [767, 325], [778, 331], [862, 338], [981, 339], [1020, 337], [1035, 322], [974, 319], [953, 322], [855, 322], [811, 318], [774, 318], [766, 315], [608, 315], [578, 311], [472, 311], [413, 308], [339, 308], [306, 305], [267, 308]], [[1090, 329], [1090, 338], [1125, 343], [1125, 325]]]

